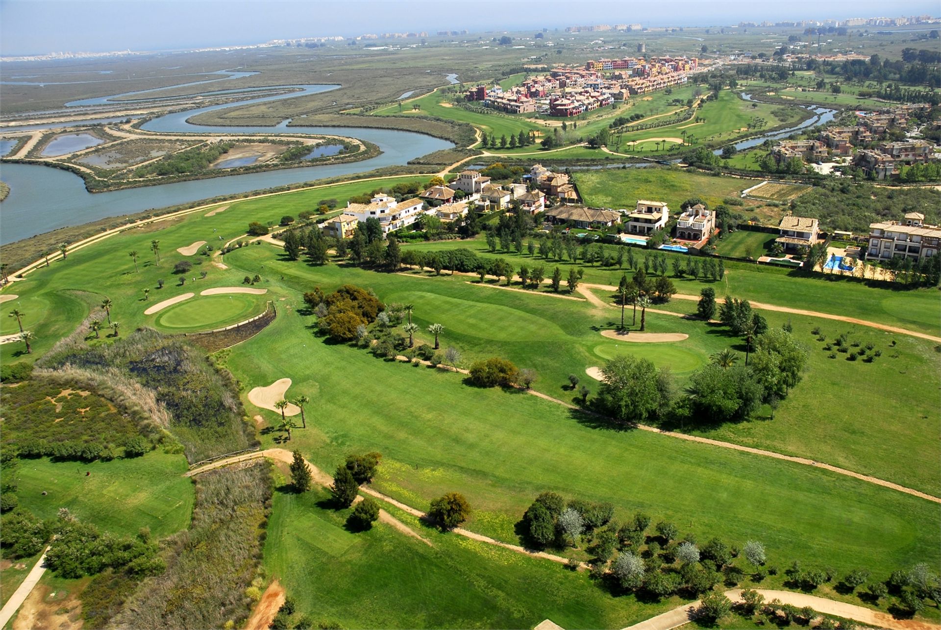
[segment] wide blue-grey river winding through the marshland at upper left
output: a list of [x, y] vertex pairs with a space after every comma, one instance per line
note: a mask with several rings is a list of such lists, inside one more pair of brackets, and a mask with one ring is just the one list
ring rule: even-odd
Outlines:
[[[168, 114], [150, 120], [144, 125], [144, 129], [169, 133], [272, 134], [281, 132], [289, 134], [346, 135], [372, 142], [382, 150], [382, 153], [369, 160], [348, 164], [283, 168], [262, 173], [227, 175], [207, 180], [179, 181], [95, 194], [88, 193], [85, 189], [85, 182], [69, 171], [40, 165], [0, 165], [0, 179], [10, 186], [9, 197], [3, 201], [2, 212], [0, 212], [0, 244], [12, 243], [51, 229], [81, 225], [108, 216], [139, 213], [199, 199], [234, 193], [247, 193], [252, 190], [289, 183], [338, 177], [383, 166], [404, 165], [409, 160], [426, 153], [449, 149], [454, 146], [446, 140], [425, 134], [359, 127], [302, 127], [294, 125], [288, 127], [290, 120], [284, 120], [276, 127], [214, 127], [194, 125], [188, 122], [188, 118], [198, 116], [203, 112], [252, 103], [297, 98], [336, 89], [337, 86], [270, 86], [243, 90], [216, 90], [206, 94], [215, 95], [236, 91], [251, 91], [252, 89], [270, 91], [279, 88], [291, 88], [295, 91], [275, 96], [247, 98], [238, 102]], [[145, 91], [150, 92], [152, 90]], [[129, 92], [69, 104], [101, 104], [119, 97], [139, 93]]]

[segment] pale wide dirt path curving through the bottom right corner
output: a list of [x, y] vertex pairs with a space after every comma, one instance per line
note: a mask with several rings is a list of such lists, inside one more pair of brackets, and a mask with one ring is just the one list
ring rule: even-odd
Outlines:
[[[826, 615], [852, 619], [855, 622], [866, 623], [877, 628], [887, 628], [888, 630], [936, 630], [937, 628], [941, 628], [941, 625], [936, 623], [913, 619], [895, 619], [888, 613], [879, 610], [837, 602], [815, 595], [806, 595], [801, 592], [767, 591], [764, 589], [757, 589], [757, 591], [764, 595], [764, 601], [766, 603], [776, 599], [782, 604], [789, 604], [791, 606], [802, 608], [804, 606], [810, 606], [817, 612]], [[726, 591], [726, 597], [733, 602], [741, 602], [742, 590], [735, 589], [733, 591]], [[644, 622], [635, 623], [634, 625], [628, 626], [628, 628], [624, 628], [624, 630], [672, 630], [673, 628], [693, 621], [697, 607], [699, 607], [698, 600], [691, 604], [677, 606], [673, 610], [668, 610], [661, 615], [651, 617]]]

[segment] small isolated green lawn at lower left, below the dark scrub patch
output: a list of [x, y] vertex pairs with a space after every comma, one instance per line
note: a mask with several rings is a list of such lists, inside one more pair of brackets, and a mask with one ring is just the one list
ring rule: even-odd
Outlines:
[[24, 459], [17, 469], [16, 496], [21, 506], [43, 519], [68, 508], [79, 519], [116, 534], [151, 528], [154, 538], [163, 538], [189, 526], [193, 484], [184, 472], [183, 455], [159, 450], [88, 464]]

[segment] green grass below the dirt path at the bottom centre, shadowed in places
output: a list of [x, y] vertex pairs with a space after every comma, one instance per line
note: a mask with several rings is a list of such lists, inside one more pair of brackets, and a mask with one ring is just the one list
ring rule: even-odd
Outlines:
[[439, 533], [387, 505], [434, 546], [383, 523], [350, 533], [350, 511], [329, 509], [328, 499], [322, 489], [276, 493], [264, 549], [265, 569], [315, 622], [528, 628], [550, 618], [563, 627], [623, 627], [681, 603], [614, 597], [583, 572]]

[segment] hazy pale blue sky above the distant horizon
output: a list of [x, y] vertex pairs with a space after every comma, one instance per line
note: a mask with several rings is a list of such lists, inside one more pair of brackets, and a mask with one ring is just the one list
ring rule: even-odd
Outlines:
[[937, 0], [0, 0], [0, 54], [174, 50], [389, 31], [937, 15]]

